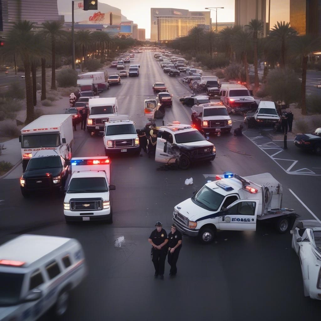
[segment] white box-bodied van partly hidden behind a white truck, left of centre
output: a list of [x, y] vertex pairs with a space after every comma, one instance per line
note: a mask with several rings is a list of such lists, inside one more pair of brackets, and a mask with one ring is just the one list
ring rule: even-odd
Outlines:
[[117, 115], [116, 98], [97, 98], [89, 100], [89, 116], [87, 118], [87, 131], [92, 133], [104, 132], [105, 122], [110, 116]]

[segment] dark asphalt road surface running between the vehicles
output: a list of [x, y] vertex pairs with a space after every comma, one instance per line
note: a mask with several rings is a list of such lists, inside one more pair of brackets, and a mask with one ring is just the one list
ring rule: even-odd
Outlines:
[[[189, 124], [190, 108], [178, 100], [190, 94], [189, 89], [178, 78], [164, 74], [152, 52], [136, 54], [131, 64], [136, 63], [141, 65], [139, 77], [123, 78], [120, 86], [111, 86], [100, 97], [117, 97], [118, 112], [130, 115], [136, 128], [141, 128], [147, 118], [143, 101], [154, 97], [152, 84], [163, 81], [173, 94], [165, 124], [173, 120]], [[116, 69], [110, 68], [108, 74], [113, 73]], [[232, 119], [233, 128], [243, 121], [241, 116]], [[74, 156], [104, 155], [102, 137], [92, 137], [78, 127]], [[63, 320], [270, 321], [319, 316], [320, 302], [304, 297], [290, 233], [277, 234], [267, 225], [259, 225], [256, 232], [219, 232], [211, 245], [184, 237], [176, 278], [169, 279], [166, 262], [164, 280], [154, 279], [147, 239], [155, 222], [163, 222], [169, 232], [174, 205], [191, 197], [213, 179], [213, 174], [227, 170], [241, 176], [269, 172], [283, 184], [284, 207], [294, 208], [302, 218], [313, 219], [311, 213], [321, 218], [317, 204], [320, 158], [302, 153], [290, 143], [289, 150], [282, 151], [280, 142], [272, 142], [255, 129], [244, 131], [241, 137], [211, 136], [210, 141], [216, 146], [215, 160], [186, 171], [170, 170], [145, 154], [112, 158], [111, 183], [116, 184], [116, 190], [111, 191], [112, 225], [66, 225], [63, 197], [24, 199], [19, 173], [17, 178], [2, 179], [0, 242], [21, 233], [65, 236], [81, 242], [89, 275], [74, 291]], [[184, 185], [190, 177], [194, 184]], [[116, 247], [120, 236], [125, 242]], [[45, 315], [41, 320], [47, 318]]]

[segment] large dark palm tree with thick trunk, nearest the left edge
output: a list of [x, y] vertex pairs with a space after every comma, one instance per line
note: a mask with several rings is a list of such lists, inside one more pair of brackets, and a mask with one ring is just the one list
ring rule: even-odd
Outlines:
[[26, 84], [26, 105], [27, 116], [25, 123], [29, 124], [34, 120], [34, 106], [32, 99], [32, 84], [30, 78], [30, 62], [32, 56], [37, 55], [38, 46], [33, 31], [31, 31], [33, 23], [29, 21], [15, 22], [13, 29], [9, 31], [6, 39], [6, 54], [13, 55], [22, 60], [25, 72]]

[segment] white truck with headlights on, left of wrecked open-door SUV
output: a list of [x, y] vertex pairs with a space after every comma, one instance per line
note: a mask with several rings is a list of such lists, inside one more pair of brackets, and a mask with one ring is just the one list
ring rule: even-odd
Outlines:
[[103, 141], [106, 156], [115, 153], [139, 154], [139, 139], [134, 122], [128, 115], [109, 117], [105, 123]]

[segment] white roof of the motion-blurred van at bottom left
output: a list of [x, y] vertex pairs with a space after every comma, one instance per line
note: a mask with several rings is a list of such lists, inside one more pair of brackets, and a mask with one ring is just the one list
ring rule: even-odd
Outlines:
[[0, 246], [0, 259], [22, 261], [25, 262], [22, 267], [27, 267], [70, 240], [57, 236], [23, 234]]

